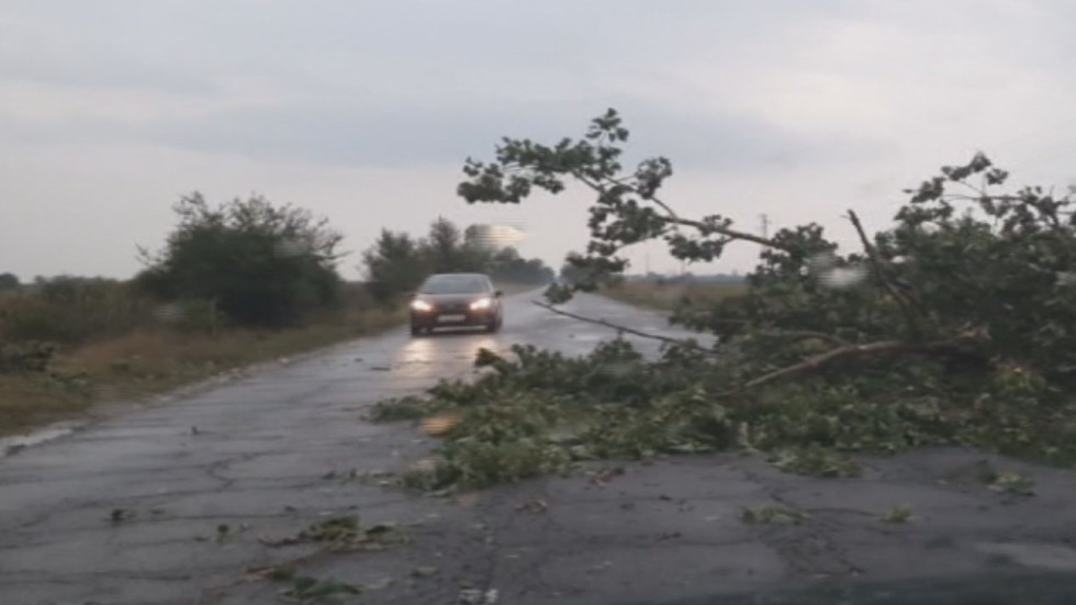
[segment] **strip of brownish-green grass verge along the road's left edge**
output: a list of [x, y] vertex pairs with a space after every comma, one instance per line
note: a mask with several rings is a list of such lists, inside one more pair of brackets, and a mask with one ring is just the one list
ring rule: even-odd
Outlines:
[[0, 434], [69, 417], [99, 402], [162, 393], [229, 369], [377, 334], [405, 318], [401, 305], [283, 330], [209, 335], [149, 327], [88, 343], [61, 351], [51, 373], [0, 373]]

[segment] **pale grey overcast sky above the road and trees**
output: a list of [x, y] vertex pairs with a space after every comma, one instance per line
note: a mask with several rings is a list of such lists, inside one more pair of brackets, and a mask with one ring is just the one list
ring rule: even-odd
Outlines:
[[130, 277], [195, 190], [328, 216], [348, 278], [380, 228], [438, 214], [522, 226], [559, 266], [585, 192], [468, 206], [460, 167], [609, 107], [672, 159], [682, 214], [851, 245], [845, 209], [884, 226], [977, 149], [1074, 182], [1074, 57], [1068, 0], [0, 0], [0, 272]]

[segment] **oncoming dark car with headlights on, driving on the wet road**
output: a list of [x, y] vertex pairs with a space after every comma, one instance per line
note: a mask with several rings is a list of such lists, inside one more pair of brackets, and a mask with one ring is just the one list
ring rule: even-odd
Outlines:
[[438, 327], [482, 326], [501, 329], [503, 294], [485, 273], [436, 273], [427, 277], [411, 301], [411, 333]]

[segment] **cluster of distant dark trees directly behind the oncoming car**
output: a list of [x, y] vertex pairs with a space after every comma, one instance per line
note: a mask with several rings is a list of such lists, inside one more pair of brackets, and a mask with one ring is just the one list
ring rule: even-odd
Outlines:
[[542, 284], [554, 272], [540, 259], [525, 259], [511, 246], [501, 246], [496, 234], [483, 225], [460, 229], [437, 219], [425, 237], [382, 229], [362, 255], [370, 294], [390, 303], [414, 291], [431, 273], [482, 272], [495, 282]]

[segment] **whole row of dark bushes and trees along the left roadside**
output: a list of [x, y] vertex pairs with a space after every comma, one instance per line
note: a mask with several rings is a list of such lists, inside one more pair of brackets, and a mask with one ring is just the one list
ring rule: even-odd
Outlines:
[[461, 231], [438, 219], [417, 239], [382, 232], [362, 255], [367, 281], [348, 283], [338, 271], [341, 234], [307, 210], [261, 197], [211, 204], [193, 193], [173, 211], [176, 226], [159, 249], [138, 250], [145, 268], [131, 280], [60, 276], [20, 283], [0, 273], [0, 347], [7, 350], [0, 358], [9, 360], [0, 359], [0, 369], [38, 350], [18, 348], [27, 344], [71, 347], [146, 327], [212, 335], [231, 327], [350, 326], [361, 321], [357, 312], [384, 307], [379, 303], [394, 301], [431, 272], [484, 271], [523, 283], [552, 279], [540, 260], [497, 247], [487, 228]]

